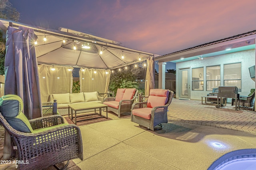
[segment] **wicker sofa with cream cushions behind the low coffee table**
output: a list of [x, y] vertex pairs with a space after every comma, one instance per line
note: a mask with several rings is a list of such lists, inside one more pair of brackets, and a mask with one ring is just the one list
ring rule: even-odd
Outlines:
[[[64, 93], [64, 94], [50, 94], [49, 102], [57, 100], [57, 109], [60, 115], [68, 115], [68, 104], [73, 103], [103, 103], [103, 97], [99, 96], [98, 92], [81, 92], [81, 93]], [[94, 111], [94, 109], [87, 110]], [[85, 111], [80, 111], [85, 112]], [[79, 111], [77, 113], [80, 113]]]

